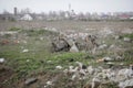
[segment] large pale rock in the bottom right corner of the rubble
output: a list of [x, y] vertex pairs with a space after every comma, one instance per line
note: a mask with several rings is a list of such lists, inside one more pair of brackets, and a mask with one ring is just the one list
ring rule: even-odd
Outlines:
[[125, 80], [125, 81], [121, 81], [119, 84], [119, 87], [120, 88], [133, 88], [133, 79], [129, 79], [129, 80]]

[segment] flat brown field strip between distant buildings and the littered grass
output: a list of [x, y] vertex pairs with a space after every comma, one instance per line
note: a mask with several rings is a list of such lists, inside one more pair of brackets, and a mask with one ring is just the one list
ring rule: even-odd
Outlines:
[[55, 28], [59, 31], [74, 30], [78, 32], [83, 32], [84, 29], [91, 30], [102, 30], [103, 28], [109, 28], [115, 31], [122, 30], [133, 30], [132, 21], [18, 21], [18, 22], [0, 22], [0, 31], [9, 30], [11, 28], [22, 28], [22, 29], [43, 29], [43, 28]]

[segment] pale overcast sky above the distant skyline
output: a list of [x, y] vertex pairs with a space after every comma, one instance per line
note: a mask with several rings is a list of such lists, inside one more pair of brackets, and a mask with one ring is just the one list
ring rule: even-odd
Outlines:
[[0, 0], [0, 13], [3, 10], [13, 12], [13, 8], [29, 8], [32, 12], [69, 10], [75, 12], [124, 12], [133, 11], [133, 0]]

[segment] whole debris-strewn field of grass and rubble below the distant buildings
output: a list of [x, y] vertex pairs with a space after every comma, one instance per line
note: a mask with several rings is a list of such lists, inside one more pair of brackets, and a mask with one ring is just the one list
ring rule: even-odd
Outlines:
[[133, 88], [133, 22], [0, 22], [0, 88]]

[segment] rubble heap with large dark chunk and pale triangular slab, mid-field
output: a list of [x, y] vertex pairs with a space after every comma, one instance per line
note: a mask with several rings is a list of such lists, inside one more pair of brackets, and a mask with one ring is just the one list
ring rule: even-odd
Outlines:
[[[72, 34], [70, 34], [72, 36]], [[91, 51], [94, 47], [98, 47], [96, 36], [94, 35], [83, 35], [79, 34], [79, 36], [73, 35], [59, 35], [54, 37], [51, 42], [53, 52], [79, 52], [79, 51]]]

